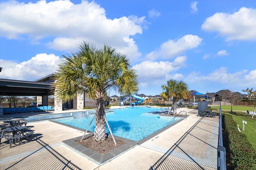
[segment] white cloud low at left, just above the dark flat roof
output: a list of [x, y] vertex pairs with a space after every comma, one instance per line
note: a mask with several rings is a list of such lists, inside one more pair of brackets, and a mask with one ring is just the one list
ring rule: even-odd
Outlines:
[[0, 59], [1, 78], [34, 81], [56, 71], [60, 57], [54, 54], [37, 54], [28, 61], [17, 63]]

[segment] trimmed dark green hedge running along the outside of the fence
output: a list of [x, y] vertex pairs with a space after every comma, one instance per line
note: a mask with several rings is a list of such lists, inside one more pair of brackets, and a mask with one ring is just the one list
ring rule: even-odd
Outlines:
[[256, 150], [240, 133], [232, 115], [223, 114], [223, 134], [226, 137], [227, 169], [256, 170]]

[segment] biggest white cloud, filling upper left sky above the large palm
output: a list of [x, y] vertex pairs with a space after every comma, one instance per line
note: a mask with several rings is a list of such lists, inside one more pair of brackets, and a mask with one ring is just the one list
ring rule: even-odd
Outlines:
[[145, 16], [108, 19], [104, 8], [94, 1], [82, 1], [81, 4], [69, 0], [48, 3], [41, 0], [28, 4], [10, 1], [1, 3], [0, 7], [2, 37], [29, 37], [36, 43], [51, 38], [46, 45], [64, 51], [75, 50], [86, 41], [95, 45], [108, 43], [127, 52], [128, 57], [140, 56], [136, 42], [130, 36], [142, 34], [143, 24], [146, 24]]

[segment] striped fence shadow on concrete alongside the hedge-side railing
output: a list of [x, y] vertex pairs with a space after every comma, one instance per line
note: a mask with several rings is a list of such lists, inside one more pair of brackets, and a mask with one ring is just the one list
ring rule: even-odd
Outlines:
[[216, 170], [218, 126], [215, 124], [214, 119], [200, 118], [150, 170]]

